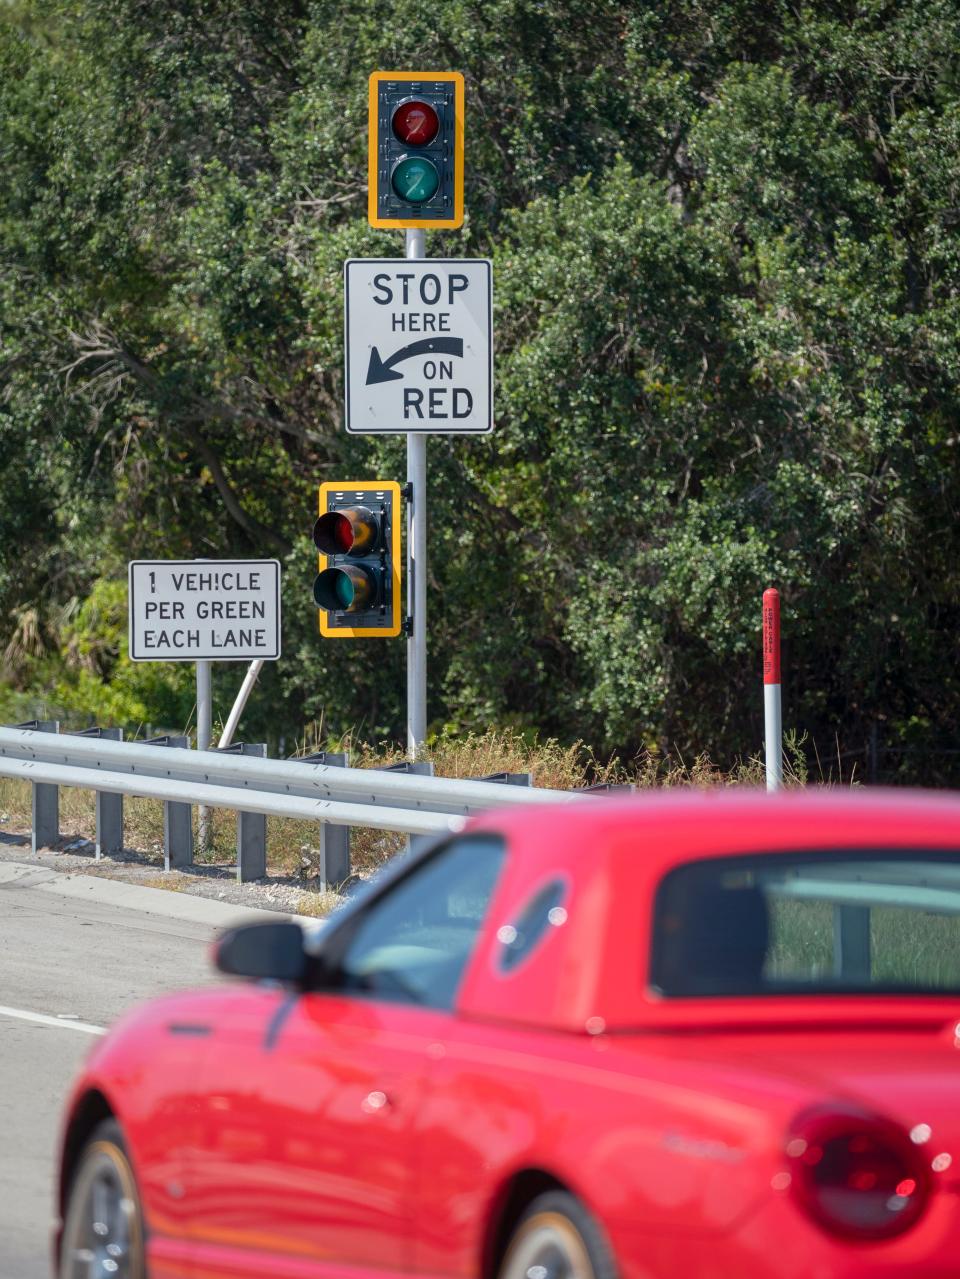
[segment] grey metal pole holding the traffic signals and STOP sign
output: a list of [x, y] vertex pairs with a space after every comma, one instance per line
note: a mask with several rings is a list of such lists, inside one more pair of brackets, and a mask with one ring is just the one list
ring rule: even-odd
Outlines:
[[[427, 256], [422, 228], [408, 229], [406, 257]], [[406, 753], [412, 760], [427, 737], [427, 436], [406, 432]]]

